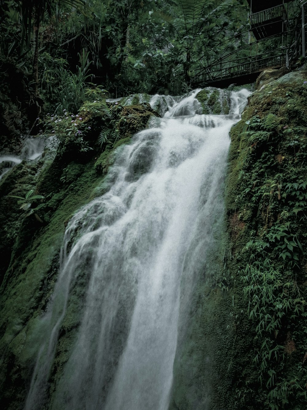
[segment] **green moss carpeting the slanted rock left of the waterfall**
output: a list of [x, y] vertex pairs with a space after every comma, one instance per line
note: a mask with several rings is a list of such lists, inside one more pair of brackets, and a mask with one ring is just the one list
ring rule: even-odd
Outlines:
[[[119, 141], [117, 145], [128, 140]], [[105, 151], [103, 156], [105, 175], [108, 166], [113, 162], [111, 159], [113, 150]], [[18, 209], [14, 211], [14, 214], [21, 218], [20, 231], [17, 238], [14, 237], [17, 240], [14, 244], [11, 264], [1, 287], [0, 323], [2, 329], [0, 348], [2, 352], [7, 352], [3, 356], [0, 374], [1, 395], [5, 403], [15, 403], [11, 404], [13, 406], [11, 408], [23, 406], [21, 392], [29, 383], [30, 369], [44, 338], [44, 330], [39, 331], [37, 328], [41, 326], [38, 318], [45, 311], [53, 292], [65, 226], [72, 214], [92, 200], [97, 194], [97, 187], [102, 185], [104, 175], [97, 174], [94, 164], [94, 158], [87, 164], [71, 162], [63, 171], [59, 166], [60, 162], [56, 160], [39, 174], [37, 186], [41, 188], [47, 200], [41, 214], [44, 224], [31, 218], [23, 219]], [[21, 169], [22, 166], [19, 166], [12, 175], [14, 172], [16, 175]], [[17, 190], [13, 193], [21, 194]], [[74, 310], [75, 306], [71, 304], [68, 307], [69, 322], [66, 318], [67, 323], [63, 324], [67, 333], [76, 326], [77, 312]], [[72, 335], [69, 335], [68, 339], [71, 338]], [[65, 342], [66, 347], [63, 345], [64, 351], [67, 349], [67, 343]], [[11, 362], [15, 363], [13, 369], [10, 366]], [[13, 375], [16, 369], [19, 375], [17, 378]], [[20, 394], [13, 393], [14, 389], [16, 392], [21, 390]], [[24, 391], [23, 397], [25, 397]]]

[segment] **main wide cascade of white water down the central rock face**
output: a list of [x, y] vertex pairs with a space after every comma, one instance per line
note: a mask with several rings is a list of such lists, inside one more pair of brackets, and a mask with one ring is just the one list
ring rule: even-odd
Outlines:
[[215, 203], [228, 133], [248, 95], [232, 94], [229, 115], [201, 115], [197, 91], [172, 100], [159, 126], [117, 151], [109, 191], [70, 221], [25, 410], [46, 405], [72, 300], [82, 303], [81, 317], [74, 319], [78, 330], [44, 408], [167, 410], [184, 308], [180, 287], [192, 287], [192, 271], [205, 258], [212, 214], [222, 209]]

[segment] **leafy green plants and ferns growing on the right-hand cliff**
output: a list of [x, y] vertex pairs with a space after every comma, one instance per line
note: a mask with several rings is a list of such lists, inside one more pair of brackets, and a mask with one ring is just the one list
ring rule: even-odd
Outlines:
[[[253, 329], [249, 372], [271, 410], [301, 410], [307, 399], [305, 97], [300, 84], [280, 89], [276, 82], [256, 92], [230, 154], [236, 151], [238, 195], [228, 212], [242, 230], [233, 263]], [[249, 390], [240, 391], [245, 406]]]

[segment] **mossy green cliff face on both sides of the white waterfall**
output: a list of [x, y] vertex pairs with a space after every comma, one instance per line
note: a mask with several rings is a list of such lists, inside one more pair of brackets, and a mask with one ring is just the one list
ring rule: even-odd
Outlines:
[[[214, 111], [212, 92], [202, 98]], [[253, 93], [231, 131], [226, 211], [212, 210], [216, 241], [205, 271], [196, 275], [190, 316], [182, 319], [170, 409], [305, 409], [306, 101], [307, 73], [289, 73]], [[55, 157], [22, 162], [0, 181], [0, 397], [6, 409], [24, 405], [67, 222], [108, 189], [114, 148], [156, 115], [146, 103], [112, 110], [85, 105], [76, 121], [84, 146], [65, 137]], [[31, 189], [44, 196], [37, 212], [43, 223], [4, 197]], [[61, 327], [50, 395], [78, 327], [82, 280]]]

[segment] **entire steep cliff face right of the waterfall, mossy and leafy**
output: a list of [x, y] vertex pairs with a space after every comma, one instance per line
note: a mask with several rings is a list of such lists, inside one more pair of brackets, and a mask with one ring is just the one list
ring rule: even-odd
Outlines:
[[223, 244], [191, 301], [172, 409], [306, 408], [307, 72], [260, 84], [230, 133]]

